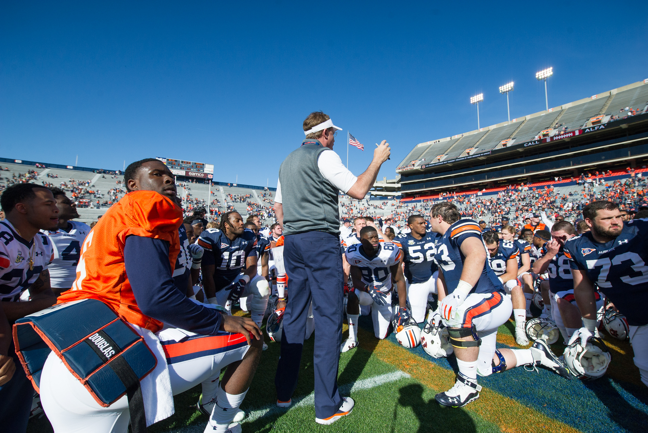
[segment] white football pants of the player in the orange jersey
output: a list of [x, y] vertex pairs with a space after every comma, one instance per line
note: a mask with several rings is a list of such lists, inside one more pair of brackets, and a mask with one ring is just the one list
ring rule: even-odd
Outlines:
[[[164, 329], [156, 334], [167, 357], [157, 362], [168, 364], [173, 395], [202, 383], [203, 401], [209, 401], [218, 389], [220, 370], [242, 360], [248, 352], [248, 342], [242, 334], [231, 333], [199, 334], [176, 342], [169, 335], [175, 330]], [[126, 395], [107, 408], [100, 406], [53, 352], [43, 366], [40, 398], [56, 433], [128, 431], [130, 413]], [[144, 395], [145, 401], [155, 398], [155, 395]]]

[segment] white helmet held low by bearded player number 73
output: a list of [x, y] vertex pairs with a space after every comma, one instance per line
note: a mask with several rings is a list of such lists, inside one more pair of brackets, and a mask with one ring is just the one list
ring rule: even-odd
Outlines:
[[562, 353], [565, 365], [579, 379], [598, 379], [607, 371], [612, 355], [600, 338], [591, 337], [585, 347], [581, 345], [581, 338], [565, 347]]

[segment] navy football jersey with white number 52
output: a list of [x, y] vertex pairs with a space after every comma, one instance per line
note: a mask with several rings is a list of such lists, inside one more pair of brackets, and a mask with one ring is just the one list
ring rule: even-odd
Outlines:
[[427, 231], [421, 239], [416, 239], [410, 233], [398, 235], [397, 244], [404, 253], [405, 277], [411, 283], [425, 283], [437, 271], [434, 263], [436, 248], [434, 240], [438, 233]]

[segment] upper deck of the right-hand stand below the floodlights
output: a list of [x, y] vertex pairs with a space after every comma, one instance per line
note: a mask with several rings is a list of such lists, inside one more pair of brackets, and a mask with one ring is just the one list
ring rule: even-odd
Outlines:
[[648, 161], [648, 79], [417, 145], [396, 170], [403, 198], [619, 170]]

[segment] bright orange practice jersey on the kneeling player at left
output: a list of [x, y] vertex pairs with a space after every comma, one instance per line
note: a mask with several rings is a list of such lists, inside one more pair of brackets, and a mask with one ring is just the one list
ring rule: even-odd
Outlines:
[[[156, 333], [163, 323], [146, 316], [135, 301], [124, 265], [124, 245], [129, 235], [166, 240], [170, 269], [180, 250], [178, 227], [182, 210], [155, 191], [128, 193], [101, 217], [87, 235], [71, 290], [58, 303], [93, 298], [106, 303], [126, 322]], [[148, 260], [148, 257], [142, 257]]]

